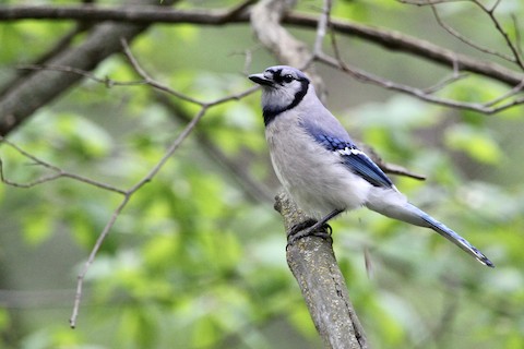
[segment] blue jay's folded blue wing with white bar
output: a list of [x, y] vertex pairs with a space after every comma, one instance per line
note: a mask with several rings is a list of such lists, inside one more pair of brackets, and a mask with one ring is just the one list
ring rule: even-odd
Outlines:
[[338, 135], [336, 136], [312, 125], [305, 127], [305, 130], [325, 149], [337, 153], [342, 158], [342, 164], [347, 166], [352, 172], [362, 177], [374, 186], [393, 186], [391, 179], [352, 142], [345, 130], [342, 132], [337, 128]]

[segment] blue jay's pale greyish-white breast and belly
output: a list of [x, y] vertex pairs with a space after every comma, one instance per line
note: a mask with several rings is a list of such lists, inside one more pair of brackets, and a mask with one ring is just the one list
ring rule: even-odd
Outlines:
[[278, 115], [265, 130], [273, 168], [294, 201], [321, 217], [361, 206], [372, 185], [352, 173], [336, 152], [317, 143], [294, 110]]

